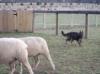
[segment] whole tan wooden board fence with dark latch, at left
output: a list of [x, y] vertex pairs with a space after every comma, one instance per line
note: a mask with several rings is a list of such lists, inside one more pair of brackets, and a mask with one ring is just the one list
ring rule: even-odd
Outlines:
[[1, 10], [0, 32], [32, 32], [33, 13], [27, 10]]

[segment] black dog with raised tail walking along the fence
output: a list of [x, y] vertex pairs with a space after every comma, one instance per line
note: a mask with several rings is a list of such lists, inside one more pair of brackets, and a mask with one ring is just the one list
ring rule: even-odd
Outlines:
[[83, 31], [80, 32], [68, 32], [64, 33], [61, 31], [61, 34], [66, 37], [66, 42], [71, 41], [71, 43], [75, 40], [78, 42], [79, 46], [81, 46], [82, 38], [83, 38]]

